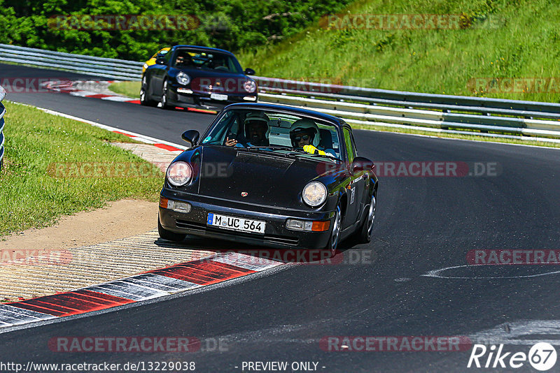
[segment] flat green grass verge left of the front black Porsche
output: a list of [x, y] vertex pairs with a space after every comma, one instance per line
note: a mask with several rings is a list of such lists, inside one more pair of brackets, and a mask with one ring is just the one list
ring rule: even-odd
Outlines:
[[[0, 235], [50, 226], [63, 215], [122, 198], [157, 200], [163, 175], [155, 166], [109, 142], [126, 136], [5, 102], [6, 155], [0, 171]], [[143, 165], [148, 177], [55, 177], [61, 164]], [[121, 174], [122, 175], [122, 174]], [[138, 175], [138, 174], [137, 174]], [[136, 175], [136, 176], [137, 176]]]

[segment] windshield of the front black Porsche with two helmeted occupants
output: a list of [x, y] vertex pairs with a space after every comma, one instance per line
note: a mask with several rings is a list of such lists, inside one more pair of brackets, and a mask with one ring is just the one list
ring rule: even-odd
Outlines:
[[334, 124], [269, 110], [228, 110], [210, 129], [202, 144], [342, 159]]

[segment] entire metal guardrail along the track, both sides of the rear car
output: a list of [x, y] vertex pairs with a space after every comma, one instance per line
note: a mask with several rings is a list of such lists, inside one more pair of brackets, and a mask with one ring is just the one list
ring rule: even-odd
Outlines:
[[[118, 80], [140, 80], [143, 66], [138, 61], [6, 44], [0, 44], [0, 61], [52, 67]], [[463, 131], [482, 136], [494, 136], [491, 133], [540, 136], [560, 142], [556, 140], [560, 139], [560, 103], [400, 92], [258, 76], [253, 78], [259, 86], [259, 101], [311, 108], [342, 117], [351, 124], [420, 127], [430, 131]]]

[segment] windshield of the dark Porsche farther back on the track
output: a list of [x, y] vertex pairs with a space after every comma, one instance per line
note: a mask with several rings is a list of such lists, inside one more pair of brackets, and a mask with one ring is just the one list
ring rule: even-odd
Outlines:
[[193, 68], [205, 71], [241, 73], [241, 66], [235, 57], [225, 53], [196, 50], [192, 48], [178, 49], [175, 54], [173, 66], [176, 68]]

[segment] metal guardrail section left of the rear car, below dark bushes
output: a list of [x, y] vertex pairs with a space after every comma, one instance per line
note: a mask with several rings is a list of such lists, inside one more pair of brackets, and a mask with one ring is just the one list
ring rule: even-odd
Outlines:
[[0, 44], [0, 61], [75, 71], [104, 78], [140, 80], [143, 62]]

